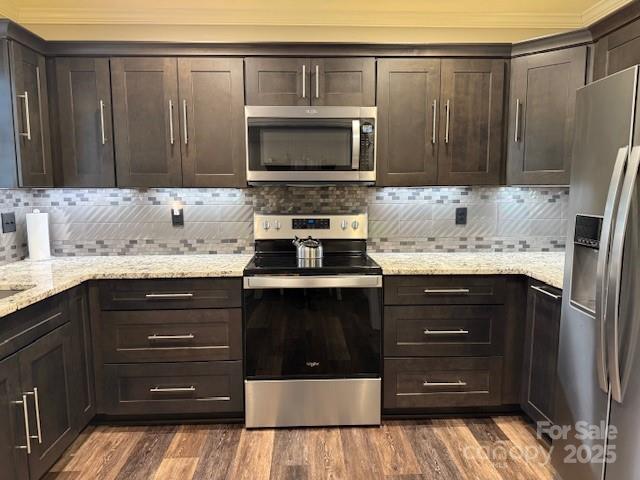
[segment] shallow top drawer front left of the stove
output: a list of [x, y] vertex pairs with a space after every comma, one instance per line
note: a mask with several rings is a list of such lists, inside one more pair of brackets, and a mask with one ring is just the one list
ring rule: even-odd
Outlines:
[[103, 310], [172, 310], [240, 307], [240, 278], [105, 280]]

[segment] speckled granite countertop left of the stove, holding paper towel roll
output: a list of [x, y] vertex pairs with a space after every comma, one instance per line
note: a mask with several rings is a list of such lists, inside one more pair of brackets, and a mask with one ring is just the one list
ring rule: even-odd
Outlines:
[[0, 267], [0, 290], [25, 290], [0, 300], [0, 317], [87, 280], [241, 277], [250, 259], [232, 254], [136, 255], [14, 262]]

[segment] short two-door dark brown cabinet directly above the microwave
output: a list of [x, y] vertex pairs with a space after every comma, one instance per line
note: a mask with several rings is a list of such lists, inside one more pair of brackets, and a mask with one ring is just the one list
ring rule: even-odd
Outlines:
[[375, 105], [375, 59], [245, 59], [247, 105]]

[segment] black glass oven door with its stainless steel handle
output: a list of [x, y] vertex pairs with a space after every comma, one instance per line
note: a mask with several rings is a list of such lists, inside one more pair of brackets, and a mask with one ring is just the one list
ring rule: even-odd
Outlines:
[[382, 277], [244, 279], [247, 380], [379, 378]]

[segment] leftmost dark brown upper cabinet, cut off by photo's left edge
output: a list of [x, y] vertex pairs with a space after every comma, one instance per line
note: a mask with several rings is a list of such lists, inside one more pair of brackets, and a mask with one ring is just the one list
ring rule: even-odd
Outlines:
[[52, 186], [44, 57], [0, 41], [0, 97], [0, 186]]

